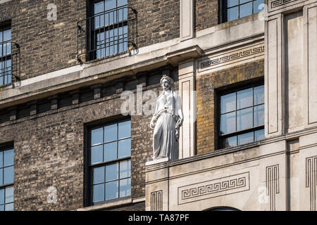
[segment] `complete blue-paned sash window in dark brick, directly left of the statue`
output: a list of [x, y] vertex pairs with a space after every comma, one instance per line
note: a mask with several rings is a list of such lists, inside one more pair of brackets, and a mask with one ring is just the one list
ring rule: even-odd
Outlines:
[[120, 121], [90, 129], [90, 201], [131, 195], [131, 122]]

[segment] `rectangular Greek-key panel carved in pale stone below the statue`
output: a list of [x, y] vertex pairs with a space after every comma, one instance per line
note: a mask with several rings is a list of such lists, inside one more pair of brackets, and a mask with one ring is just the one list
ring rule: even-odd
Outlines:
[[178, 205], [249, 191], [249, 172], [190, 184], [178, 188]]

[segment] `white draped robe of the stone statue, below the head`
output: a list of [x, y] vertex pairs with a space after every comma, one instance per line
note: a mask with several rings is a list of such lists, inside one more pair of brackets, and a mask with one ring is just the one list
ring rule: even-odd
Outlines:
[[168, 157], [170, 160], [178, 159], [175, 124], [179, 118], [178, 108], [180, 107], [180, 96], [173, 89], [170, 92], [163, 91], [157, 99], [155, 115], [159, 115], [159, 118], [156, 121], [153, 135], [154, 159], [163, 157]]

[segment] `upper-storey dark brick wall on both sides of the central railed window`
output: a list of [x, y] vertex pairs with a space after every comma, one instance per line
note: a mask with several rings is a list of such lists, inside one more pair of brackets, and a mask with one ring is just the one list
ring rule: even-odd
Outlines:
[[[56, 4], [57, 20], [47, 20], [48, 4]], [[129, 0], [138, 12], [137, 46], [179, 37], [178, 0]], [[87, 16], [86, 0], [12, 0], [0, 4], [1, 22], [11, 20], [12, 41], [20, 45], [21, 77], [27, 79], [77, 62], [77, 22]]]

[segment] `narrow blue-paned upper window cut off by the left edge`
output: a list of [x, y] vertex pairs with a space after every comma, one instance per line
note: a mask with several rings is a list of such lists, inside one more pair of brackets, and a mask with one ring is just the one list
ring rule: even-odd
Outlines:
[[11, 28], [0, 28], [0, 86], [11, 84]]

